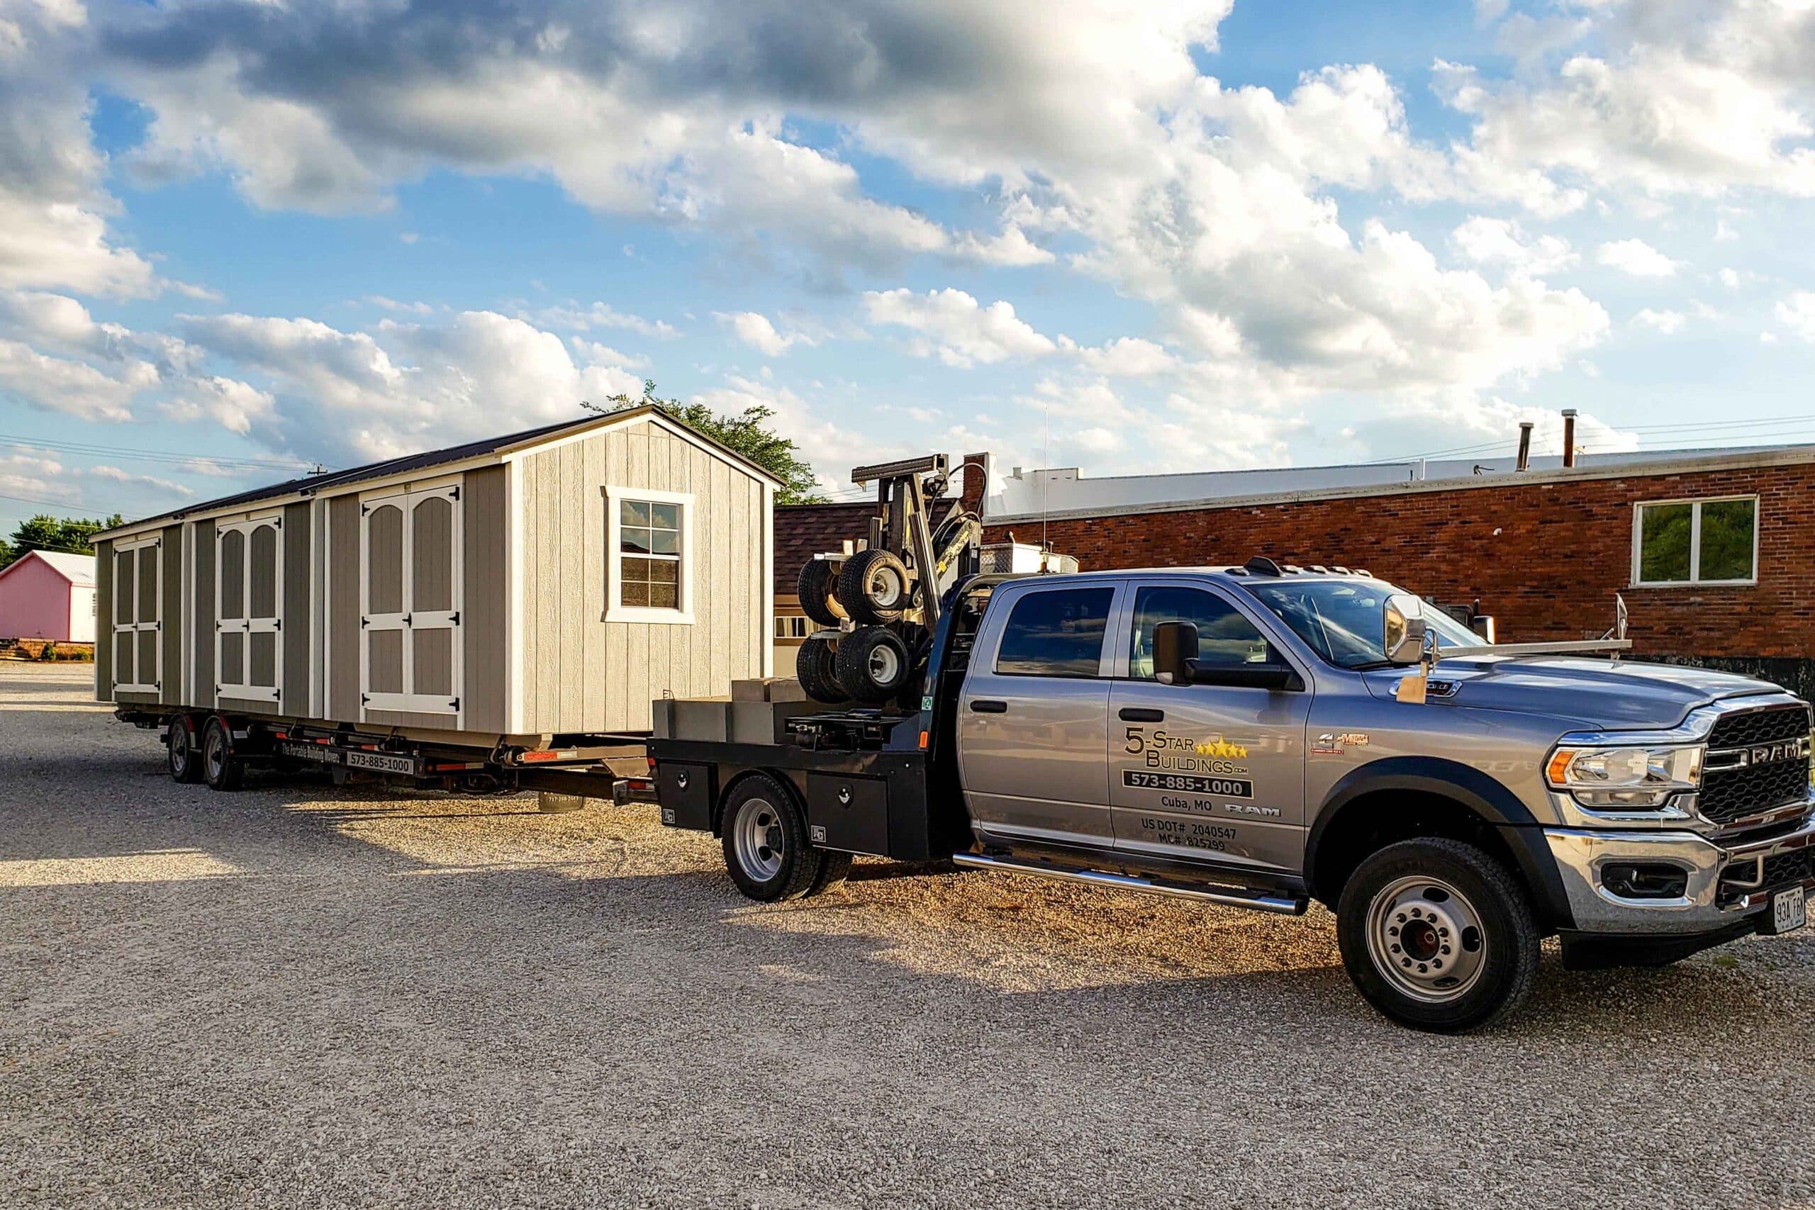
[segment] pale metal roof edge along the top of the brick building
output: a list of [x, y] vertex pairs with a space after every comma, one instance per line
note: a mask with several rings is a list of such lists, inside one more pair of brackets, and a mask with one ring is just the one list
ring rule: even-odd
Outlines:
[[[1191, 513], [1221, 508], [1261, 508], [1267, 504], [1309, 504], [1314, 501], [1347, 501], [1369, 495], [1418, 495], [1425, 492], [1477, 492], [1486, 488], [1516, 488], [1534, 483], [1584, 483], [1592, 479], [1655, 479], [1663, 475], [1701, 473], [1715, 470], [1751, 470], [1764, 466], [1797, 466], [1815, 463], [1815, 444], [1746, 454], [1741, 457], [1710, 455], [1672, 463], [1623, 463], [1615, 466], [1575, 466], [1572, 470], [1505, 472], [1497, 475], [1461, 475], [1454, 479], [1408, 479], [1405, 483], [1367, 483], [1338, 488], [1307, 488], [1303, 492], [1263, 492], [1254, 495], [1216, 495], [1192, 501], [1156, 501], [1151, 504], [1107, 504], [1102, 508], [1065, 508], [1047, 513], [984, 513], [984, 524], [1033, 524], [1038, 521], [1089, 521], [1094, 517], [1133, 517], [1140, 513]], [[984, 497], [987, 506], [989, 499]]]

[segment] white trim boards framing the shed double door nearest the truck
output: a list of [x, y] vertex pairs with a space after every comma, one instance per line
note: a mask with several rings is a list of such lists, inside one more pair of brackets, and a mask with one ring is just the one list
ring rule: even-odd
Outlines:
[[[432, 483], [412, 483], [407, 486], [381, 488], [368, 495], [359, 497], [359, 722], [367, 720], [370, 711], [407, 711], [416, 715], [446, 715], [461, 726], [466, 711], [466, 642], [465, 642], [465, 620], [463, 613], [466, 610], [466, 501], [461, 493], [465, 477], [437, 479]], [[434, 495], [446, 497], [454, 501], [454, 524], [450, 541], [454, 542], [454, 564], [450, 575], [454, 577], [454, 608], [439, 610], [428, 613], [434, 619], [437, 629], [454, 631], [452, 646], [452, 675], [454, 691], [452, 693], [414, 693], [416, 689], [416, 642], [414, 619], [421, 613], [416, 610], [416, 506]], [[372, 528], [370, 515], [383, 504], [396, 504], [403, 510], [403, 611], [396, 615], [378, 615], [367, 613], [372, 604]], [[370, 631], [370, 622], [374, 619], [383, 619], [385, 628], [396, 628], [396, 620], [403, 631], [403, 693], [372, 693], [372, 644], [367, 639]]]

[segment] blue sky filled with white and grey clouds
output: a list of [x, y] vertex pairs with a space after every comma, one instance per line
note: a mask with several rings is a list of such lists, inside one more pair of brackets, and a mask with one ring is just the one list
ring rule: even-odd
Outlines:
[[1777, 0], [0, 0], [0, 533], [643, 377], [833, 493], [1810, 439], [1808, 62]]

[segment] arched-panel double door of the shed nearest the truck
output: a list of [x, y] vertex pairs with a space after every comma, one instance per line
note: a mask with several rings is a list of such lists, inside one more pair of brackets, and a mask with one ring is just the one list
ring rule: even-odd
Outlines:
[[359, 700], [368, 709], [459, 715], [461, 499], [457, 483], [359, 503]]

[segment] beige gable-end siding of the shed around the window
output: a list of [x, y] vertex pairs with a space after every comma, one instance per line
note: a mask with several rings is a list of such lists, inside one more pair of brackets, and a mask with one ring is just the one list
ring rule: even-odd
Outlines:
[[[526, 452], [523, 702], [528, 731], [643, 731], [662, 693], [762, 675], [762, 481], [650, 421]], [[603, 488], [693, 497], [693, 622], [606, 622]]]

